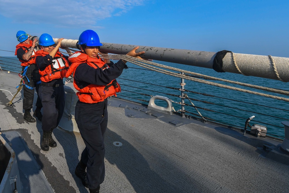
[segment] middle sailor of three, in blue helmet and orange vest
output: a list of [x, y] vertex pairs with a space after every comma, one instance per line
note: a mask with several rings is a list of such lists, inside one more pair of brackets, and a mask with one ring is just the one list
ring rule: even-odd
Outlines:
[[59, 52], [62, 40], [63, 38], [58, 39], [54, 47], [55, 43], [51, 35], [42, 34], [39, 37], [41, 50], [36, 52], [36, 64], [41, 75], [39, 95], [43, 106], [43, 135], [40, 147], [43, 151], [48, 151], [49, 147], [57, 146], [56, 141], [52, 138], [52, 131], [58, 126], [64, 111], [63, 77], [69, 64], [68, 56]]

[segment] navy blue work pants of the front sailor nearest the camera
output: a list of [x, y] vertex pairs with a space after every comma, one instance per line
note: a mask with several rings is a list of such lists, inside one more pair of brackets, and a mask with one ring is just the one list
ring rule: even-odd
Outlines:
[[104, 134], [108, 125], [107, 102], [107, 99], [93, 104], [77, 101], [75, 105], [75, 121], [86, 146], [80, 160], [87, 165], [90, 189], [98, 188], [105, 176]]

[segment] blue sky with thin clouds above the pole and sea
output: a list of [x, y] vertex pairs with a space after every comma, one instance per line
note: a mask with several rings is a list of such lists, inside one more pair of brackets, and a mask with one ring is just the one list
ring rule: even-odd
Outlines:
[[[289, 1], [0, 0], [0, 49], [15, 51], [16, 32], [101, 42], [289, 57]], [[0, 56], [13, 56], [0, 51]]]

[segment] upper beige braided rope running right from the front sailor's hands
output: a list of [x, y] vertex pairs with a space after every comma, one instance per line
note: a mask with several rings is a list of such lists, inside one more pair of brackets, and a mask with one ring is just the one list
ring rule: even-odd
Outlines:
[[[129, 57], [132, 60], [136, 60], [136, 61], [139, 61], [141, 63], [147, 63], [147, 64], [151, 64], [151, 65], [154, 65], [154, 66], [158, 66], [158, 67], [162, 67], [162, 68], [166, 68], [166, 69], [170, 69], [170, 70], [174, 70], [174, 71], [180, 71], [180, 72], [184, 72], [184, 73], [187, 73], [187, 74], [192, 74], [192, 75], [196, 75], [196, 76], [203, 76], [203, 77], [206, 77], [206, 78], [211, 78], [213, 80], [229, 82], [229, 83], [232, 83], [232, 84], [238, 84], [238, 85], [241, 85], [241, 86], [251, 87], [251, 88], [255, 88], [255, 89], [261, 89], [261, 90], [264, 90], [264, 91], [279, 93], [279, 94], [283, 94], [283, 95], [289, 95], [288, 91], [282, 91], [282, 90], [272, 89], [272, 88], [268, 88], [268, 87], [261, 87], [261, 86], [257, 86], [257, 85], [253, 85], [253, 84], [247, 84], [247, 83], [236, 82], [236, 81], [232, 81], [232, 80], [215, 78], [215, 77], [212, 77], [212, 76], [206, 76], [206, 75], [203, 75], [203, 74], [194, 73], [194, 72], [190, 72], [190, 71], [186, 71], [186, 70], [181, 70], [181, 69], [177, 69], [177, 68], [174, 68], [174, 67], [168, 67], [168, 66], [161, 65], [161, 64], [158, 64], [158, 63], [153, 63], [153, 62], [150, 62], [150, 61], [147, 61], [147, 60], [134, 58], [134, 57], [131, 57], [131, 56], [116, 55], [116, 54], [115, 55], [102, 54], [101, 57], [106, 58], [106, 59], [120, 59], [120, 57]], [[151, 68], [153, 68], [153, 67], [151, 67]], [[159, 70], [162, 70], [162, 69], [159, 69]], [[167, 71], [167, 72], [169, 72], [169, 71]]]

